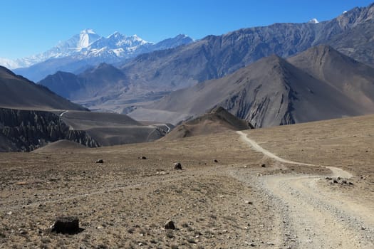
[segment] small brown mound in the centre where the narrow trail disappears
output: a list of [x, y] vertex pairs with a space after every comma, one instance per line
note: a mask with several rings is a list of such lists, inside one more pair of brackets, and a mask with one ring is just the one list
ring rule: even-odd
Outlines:
[[251, 124], [244, 120], [239, 120], [223, 107], [215, 107], [211, 112], [175, 127], [172, 132], [162, 139], [172, 140], [251, 128], [253, 128]]

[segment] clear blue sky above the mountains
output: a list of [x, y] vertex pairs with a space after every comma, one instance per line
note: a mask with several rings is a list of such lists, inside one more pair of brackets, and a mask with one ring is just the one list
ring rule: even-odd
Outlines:
[[373, 0], [4, 0], [0, 58], [46, 51], [85, 28], [100, 36], [119, 31], [146, 41], [185, 33], [220, 35], [271, 23], [326, 21]]

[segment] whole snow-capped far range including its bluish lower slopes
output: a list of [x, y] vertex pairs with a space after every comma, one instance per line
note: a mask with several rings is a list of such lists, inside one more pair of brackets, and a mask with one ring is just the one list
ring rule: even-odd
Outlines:
[[124, 36], [115, 32], [103, 37], [92, 29], [85, 29], [44, 53], [17, 60], [0, 58], [0, 65], [38, 81], [58, 70], [76, 73], [99, 63], [118, 63], [141, 53], [175, 48], [192, 42], [192, 38], [185, 35], [152, 43], [136, 35]]

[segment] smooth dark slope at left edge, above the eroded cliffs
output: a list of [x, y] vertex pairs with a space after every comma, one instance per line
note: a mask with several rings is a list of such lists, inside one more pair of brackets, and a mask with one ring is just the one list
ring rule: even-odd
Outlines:
[[48, 88], [0, 66], [0, 107], [40, 110], [86, 110]]

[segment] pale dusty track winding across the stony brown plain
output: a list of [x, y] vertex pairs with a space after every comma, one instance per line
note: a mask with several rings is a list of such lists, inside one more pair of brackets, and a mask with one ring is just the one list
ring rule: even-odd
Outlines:
[[[316, 166], [282, 159], [262, 148], [244, 132], [241, 140], [257, 152], [284, 164]], [[333, 177], [352, 174], [327, 167]], [[259, 178], [259, 186], [271, 196], [283, 215], [286, 248], [374, 248], [374, 207], [336, 196], [318, 188], [321, 176], [273, 175]]]

